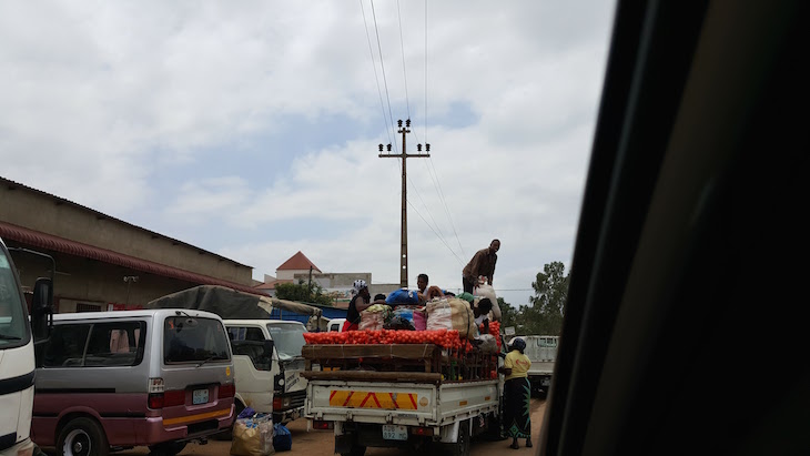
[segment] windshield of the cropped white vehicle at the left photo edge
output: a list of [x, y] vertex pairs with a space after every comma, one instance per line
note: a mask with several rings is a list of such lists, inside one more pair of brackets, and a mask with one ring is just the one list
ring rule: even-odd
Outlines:
[[6, 249], [0, 247], [0, 349], [29, 342], [28, 317]]

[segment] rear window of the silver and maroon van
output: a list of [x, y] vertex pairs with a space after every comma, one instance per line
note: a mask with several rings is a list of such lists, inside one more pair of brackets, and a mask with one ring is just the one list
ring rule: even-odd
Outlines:
[[227, 335], [216, 320], [171, 316], [163, 324], [163, 361], [200, 363], [230, 359]]

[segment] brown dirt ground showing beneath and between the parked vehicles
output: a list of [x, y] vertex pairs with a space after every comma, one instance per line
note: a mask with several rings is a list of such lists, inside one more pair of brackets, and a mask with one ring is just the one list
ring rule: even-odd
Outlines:
[[[540, 424], [543, 415], [546, 412], [546, 402], [539, 398], [531, 399], [531, 437], [535, 443], [534, 448], [524, 447], [525, 440], [520, 440], [520, 449], [509, 448], [512, 439], [500, 442], [474, 440], [470, 446], [473, 456], [486, 456], [498, 454], [496, 452], [507, 452], [507, 455], [534, 455], [537, 450], [537, 443], [540, 435]], [[306, 430], [307, 420], [304, 418], [296, 419], [287, 425], [293, 436], [293, 448], [290, 452], [279, 454], [301, 454], [306, 456], [331, 456], [334, 455], [335, 443], [332, 430]], [[207, 445], [190, 444], [180, 453], [180, 456], [226, 456], [231, 452], [231, 442], [209, 440]], [[125, 452], [115, 453], [121, 456], [144, 456], [149, 454], [149, 448], [138, 447]], [[368, 448], [366, 456], [404, 456], [408, 452], [397, 448]]]

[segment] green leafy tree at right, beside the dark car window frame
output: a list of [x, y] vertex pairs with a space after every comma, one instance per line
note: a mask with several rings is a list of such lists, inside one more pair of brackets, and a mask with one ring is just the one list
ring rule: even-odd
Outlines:
[[531, 287], [535, 295], [531, 303], [520, 308], [519, 320], [525, 322], [525, 334], [559, 335], [563, 331], [565, 303], [568, 298], [570, 274], [566, 274], [561, 262], [551, 262], [537, 273]]

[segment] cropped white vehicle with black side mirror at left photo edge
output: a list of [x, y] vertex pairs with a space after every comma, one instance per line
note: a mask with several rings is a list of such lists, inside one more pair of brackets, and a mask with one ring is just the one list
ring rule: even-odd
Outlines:
[[[33, 251], [16, 251], [45, 256], [55, 270], [53, 259]], [[9, 249], [0, 240], [0, 455], [30, 456], [33, 413], [34, 340], [48, 337], [50, 328], [53, 280], [38, 278], [28, 306]]]

